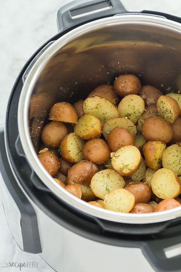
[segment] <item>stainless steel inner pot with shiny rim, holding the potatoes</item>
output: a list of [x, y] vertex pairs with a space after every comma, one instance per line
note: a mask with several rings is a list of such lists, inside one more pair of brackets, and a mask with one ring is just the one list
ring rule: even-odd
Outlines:
[[154, 223], [181, 216], [181, 208], [151, 214], [126, 214], [87, 204], [59, 186], [41, 165], [37, 152], [50, 107], [84, 99], [96, 86], [133, 73], [162, 92], [181, 89], [181, 25], [150, 15], [119, 15], [69, 31], [39, 57], [21, 91], [18, 129], [29, 164], [63, 201], [87, 214], [122, 223]]

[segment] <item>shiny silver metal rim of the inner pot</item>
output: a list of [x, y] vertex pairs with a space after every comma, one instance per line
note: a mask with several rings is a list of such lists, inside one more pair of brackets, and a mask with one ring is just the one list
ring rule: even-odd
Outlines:
[[71, 30], [66, 33], [58, 40], [56, 40], [46, 51], [39, 57], [36, 63], [33, 65], [30, 73], [28, 74], [24, 86], [21, 91], [19, 104], [18, 104], [18, 130], [24, 153], [30, 166], [33, 168], [37, 176], [43, 181], [43, 183], [60, 199], [67, 202], [70, 206], [80, 210], [81, 212], [87, 213], [91, 216], [105, 219], [113, 222], [129, 223], [129, 224], [148, 224], [163, 222], [170, 219], [174, 219], [181, 216], [181, 207], [167, 210], [164, 212], [157, 213], [145, 213], [145, 214], [129, 214], [113, 212], [105, 209], [99, 209], [81, 199], [76, 198], [59, 186], [58, 183], [48, 174], [43, 165], [40, 163], [37, 154], [33, 148], [29, 129], [28, 129], [28, 106], [30, 96], [34, 87], [36, 79], [40, 75], [43, 67], [48, 63], [49, 59], [66, 44], [82, 36], [90, 31], [109, 27], [116, 24], [149, 24], [158, 26], [161, 28], [170, 28], [172, 31], [177, 31], [181, 34], [181, 25], [179, 23], [167, 20], [165, 18], [138, 14], [126, 14], [114, 17], [108, 17], [99, 19], [78, 28]]

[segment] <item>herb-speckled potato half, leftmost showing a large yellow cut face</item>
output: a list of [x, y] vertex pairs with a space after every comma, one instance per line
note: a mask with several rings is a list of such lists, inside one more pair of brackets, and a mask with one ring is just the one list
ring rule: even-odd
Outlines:
[[78, 163], [83, 160], [83, 147], [85, 141], [75, 133], [70, 133], [61, 141], [59, 152], [63, 159], [70, 163]]

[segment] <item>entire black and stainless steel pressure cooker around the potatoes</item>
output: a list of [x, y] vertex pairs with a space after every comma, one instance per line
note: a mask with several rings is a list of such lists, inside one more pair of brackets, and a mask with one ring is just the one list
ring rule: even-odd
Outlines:
[[119, 0], [76, 0], [59, 9], [59, 33], [20, 72], [0, 132], [2, 202], [19, 247], [54, 270], [181, 271], [180, 207], [99, 209], [59, 186], [37, 157], [55, 102], [85, 99], [123, 73], [164, 93], [181, 89], [180, 23], [160, 12], [129, 12]]

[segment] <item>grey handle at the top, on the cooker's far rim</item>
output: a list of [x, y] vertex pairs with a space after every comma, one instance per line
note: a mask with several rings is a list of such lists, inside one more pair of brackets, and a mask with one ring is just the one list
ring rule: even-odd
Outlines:
[[76, 0], [62, 6], [57, 13], [58, 31], [117, 13], [127, 13], [120, 0]]

